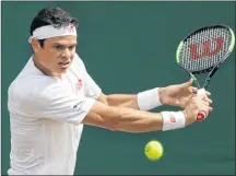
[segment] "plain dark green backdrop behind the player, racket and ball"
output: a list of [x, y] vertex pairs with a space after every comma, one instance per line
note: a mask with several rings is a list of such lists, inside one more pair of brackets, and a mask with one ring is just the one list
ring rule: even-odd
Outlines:
[[[33, 17], [60, 7], [80, 21], [78, 54], [104, 93], [138, 93], [188, 81], [175, 63], [178, 43], [204, 25], [235, 30], [235, 2], [2, 2], [2, 175], [10, 166], [8, 87], [32, 55]], [[167, 175], [235, 173], [235, 50], [211, 80], [213, 113], [181, 130], [150, 133], [84, 128], [75, 175]], [[174, 107], [154, 109], [175, 110]], [[165, 154], [144, 156], [148, 141]]]

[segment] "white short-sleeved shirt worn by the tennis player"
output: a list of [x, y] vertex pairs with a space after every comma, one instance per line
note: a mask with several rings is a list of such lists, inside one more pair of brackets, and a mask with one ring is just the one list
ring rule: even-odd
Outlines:
[[75, 55], [62, 79], [45, 75], [32, 60], [9, 87], [9, 175], [73, 175], [81, 121], [102, 91]]

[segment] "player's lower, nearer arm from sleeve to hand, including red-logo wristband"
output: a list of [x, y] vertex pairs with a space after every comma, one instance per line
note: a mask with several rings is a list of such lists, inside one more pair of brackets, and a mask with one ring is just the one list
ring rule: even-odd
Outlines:
[[[174, 124], [169, 124], [172, 116], [176, 116], [176, 122]], [[181, 117], [177, 117], [176, 114], [163, 116], [163, 113], [107, 106], [97, 102], [83, 120], [83, 124], [118, 131], [150, 132], [184, 127], [185, 116], [180, 114], [178, 116]]]

